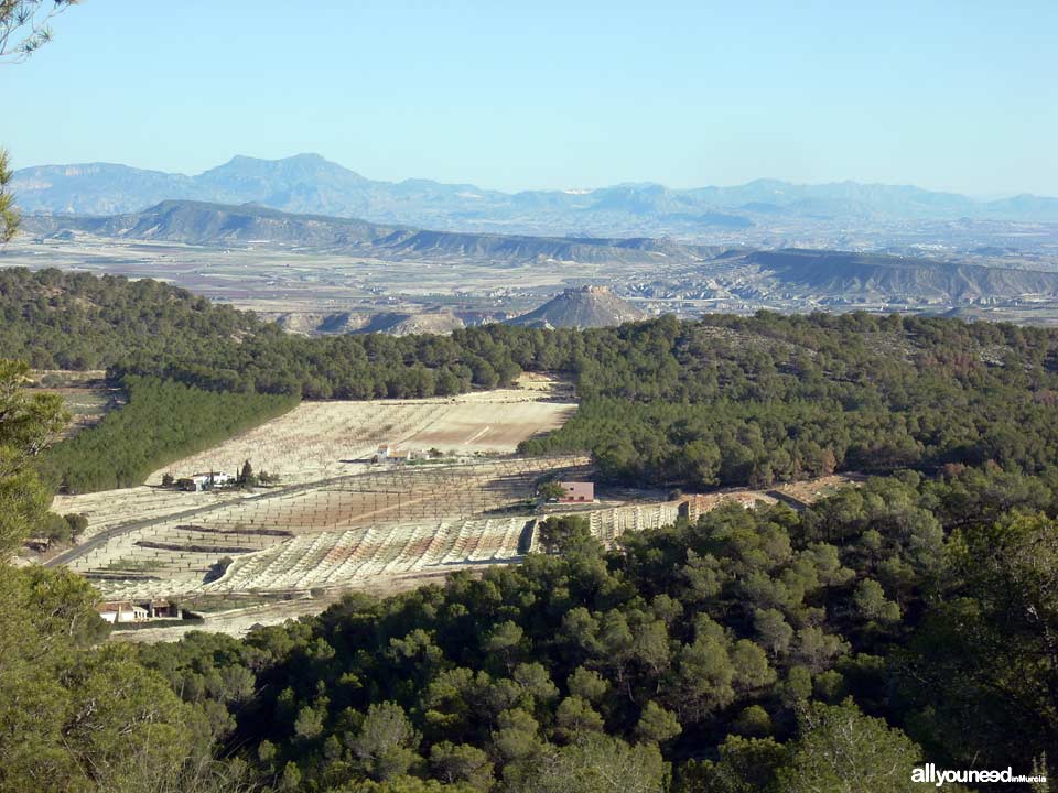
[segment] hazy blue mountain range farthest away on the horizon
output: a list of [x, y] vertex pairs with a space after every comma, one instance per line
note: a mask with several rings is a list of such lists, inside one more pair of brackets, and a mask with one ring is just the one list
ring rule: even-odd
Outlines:
[[429, 180], [374, 181], [317, 154], [236, 156], [195, 176], [108, 163], [41, 165], [17, 171], [12, 188], [26, 213], [115, 215], [166, 199], [194, 199], [447, 230], [543, 229], [563, 236], [592, 228], [635, 232], [659, 224], [737, 231], [798, 218], [1058, 221], [1058, 198], [1034, 195], [978, 200], [913, 186], [777, 180], [693, 189], [637, 183], [503, 193]]

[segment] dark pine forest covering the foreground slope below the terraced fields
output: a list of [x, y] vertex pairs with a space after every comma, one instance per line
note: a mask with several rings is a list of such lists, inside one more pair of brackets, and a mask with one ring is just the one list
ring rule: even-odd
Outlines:
[[1046, 773], [1056, 485], [902, 472], [612, 553], [574, 519], [520, 567], [139, 662], [272, 790], [899, 793], [927, 761]]

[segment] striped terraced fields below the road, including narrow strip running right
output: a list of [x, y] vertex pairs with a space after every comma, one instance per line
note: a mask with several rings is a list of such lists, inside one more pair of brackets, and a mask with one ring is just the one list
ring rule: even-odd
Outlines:
[[[108, 598], [401, 588], [455, 569], [516, 563], [539, 550], [542, 518], [525, 509], [521, 497], [541, 472], [577, 476], [584, 463], [516, 458], [350, 477], [290, 497], [224, 504], [191, 522], [136, 529], [71, 567]], [[810, 503], [849, 481], [806, 481], [796, 495], [733, 489], [661, 502], [553, 504], [548, 512], [582, 514], [592, 534], [612, 546], [626, 532], [669, 525], [681, 514], [695, 520], [724, 503]], [[376, 498], [384, 506], [373, 509]], [[216, 567], [222, 557], [231, 560], [223, 571]]]

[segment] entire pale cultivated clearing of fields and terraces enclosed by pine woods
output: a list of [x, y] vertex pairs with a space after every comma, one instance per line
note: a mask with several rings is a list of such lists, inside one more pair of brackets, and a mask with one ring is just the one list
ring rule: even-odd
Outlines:
[[[238, 631], [313, 604], [322, 608], [344, 589], [393, 591], [455, 569], [517, 563], [538, 550], [538, 482], [591, 478], [585, 457], [514, 454], [520, 441], [572, 414], [568, 389], [526, 376], [515, 389], [453, 399], [304, 403], [155, 471], [145, 486], [58, 497], [53, 509], [85, 514], [88, 529], [78, 546], [48, 564], [85, 575], [107, 599], [177, 597], [193, 608], [250, 602], [245, 615], [236, 606], [234, 615], [226, 609], [223, 618], [208, 618]], [[380, 444], [445, 456], [371, 463]], [[234, 472], [245, 459], [257, 471], [279, 475], [280, 485], [193, 493], [158, 484], [164, 472]], [[609, 545], [625, 532], [662, 526], [680, 514], [694, 519], [727, 501], [797, 506], [844, 481], [829, 477], [670, 501], [602, 493], [594, 504], [550, 504], [544, 514], [584, 513]]]

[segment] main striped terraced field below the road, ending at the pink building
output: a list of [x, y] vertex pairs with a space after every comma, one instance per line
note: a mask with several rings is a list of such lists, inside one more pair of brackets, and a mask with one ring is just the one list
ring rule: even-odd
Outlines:
[[[583, 476], [585, 463], [555, 457], [409, 466], [220, 500], [192, 518], [162, 515], [100, 535], [105, 542], [86, 547], [69, 566], [107, 597], [153, 597], [208, 591], [206, 578], [225, 556], [235, 560], [226, 589], [269, 591], [510, 560], [531, 518], [497, 511], [525, 509], [541, 476]], [[253, 556], [250, 572], [230, 584], [247, 555]]]

